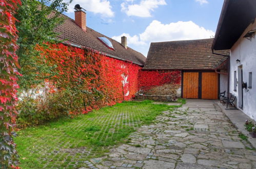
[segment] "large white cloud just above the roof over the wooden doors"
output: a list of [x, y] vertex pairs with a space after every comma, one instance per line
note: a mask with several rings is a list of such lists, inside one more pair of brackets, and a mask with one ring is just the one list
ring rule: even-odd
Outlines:
[[192, 21], [162, 24], [157, 20], [153, 20], [141, 34], [131, 36], [123, 33], [112, 38], [121, 41], [121, 36], [127, 37], [129, 47], [147, 56], [152, 42], [211, 38], [214, 36], [214, 32], [200, 27]]

